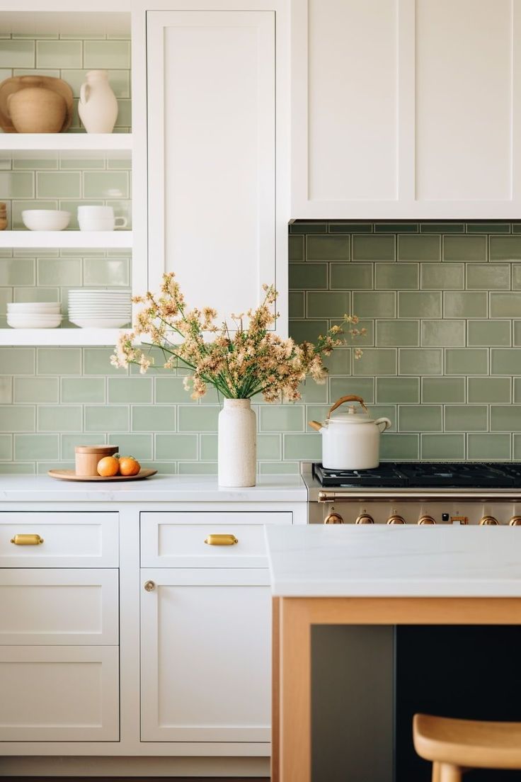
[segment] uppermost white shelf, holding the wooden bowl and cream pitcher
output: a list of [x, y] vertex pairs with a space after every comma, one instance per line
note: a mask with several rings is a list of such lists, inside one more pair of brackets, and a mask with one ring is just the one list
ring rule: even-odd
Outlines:
[[131, 150], [131, 133], [0, 133], [0, 152]]

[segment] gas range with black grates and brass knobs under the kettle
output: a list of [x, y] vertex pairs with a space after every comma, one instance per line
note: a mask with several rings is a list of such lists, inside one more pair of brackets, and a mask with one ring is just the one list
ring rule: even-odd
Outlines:
[[303, 465], [310, 523], [521, 526], [521, 463], [384, 462], [373, 470]]

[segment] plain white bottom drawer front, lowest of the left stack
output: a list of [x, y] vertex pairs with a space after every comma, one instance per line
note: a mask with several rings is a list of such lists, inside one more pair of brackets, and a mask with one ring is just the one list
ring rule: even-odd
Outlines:
[[118, 647], [0, 647], [0, 741], [118, 741]]

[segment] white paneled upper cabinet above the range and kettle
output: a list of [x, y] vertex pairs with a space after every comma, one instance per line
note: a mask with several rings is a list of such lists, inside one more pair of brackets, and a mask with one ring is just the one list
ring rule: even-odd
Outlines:
[[291, 217], [519, 217], [520, 18], [520, 0], [293, 0]]

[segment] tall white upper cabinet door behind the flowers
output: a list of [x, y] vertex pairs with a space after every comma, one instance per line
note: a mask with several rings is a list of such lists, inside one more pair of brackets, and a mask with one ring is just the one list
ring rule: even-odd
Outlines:
[[276, 283], [284, 324], [275, 13], [173, 5], [147, 13], [149, 288], [174, 271], [188, 307], [227, 317]]

